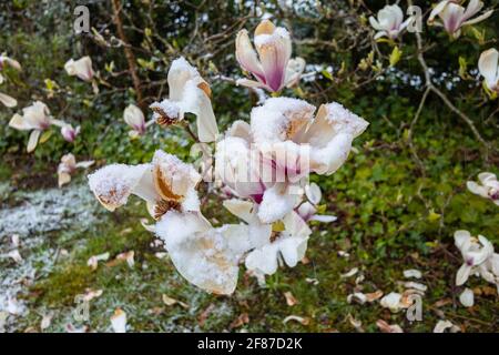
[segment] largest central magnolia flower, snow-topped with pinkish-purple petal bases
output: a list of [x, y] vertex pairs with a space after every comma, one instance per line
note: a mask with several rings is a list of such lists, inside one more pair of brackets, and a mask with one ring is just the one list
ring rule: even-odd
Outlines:
[[[368, 124], [338, 103], [323, 105], [315, 119], [314, 111], [302, 100], [269, 99], [253, 109], [251, 125], [236, 121], [216, 146], [216, 178], [257, 203], [262, 223], [298, 207], [301, 180], [310, 172], [335, 172]], [[309, 219], [314, 209], [305, 204], [298, 213]]]

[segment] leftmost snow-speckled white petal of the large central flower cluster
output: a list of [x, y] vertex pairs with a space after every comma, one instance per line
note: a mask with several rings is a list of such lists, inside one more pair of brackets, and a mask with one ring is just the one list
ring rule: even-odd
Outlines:
[[90, 190], [109, 211], [125, 204], [131, 194], [136, 194], [147, 202], [159, 200], [152, 183], [151, 164], [111, 164], [88, 178]]

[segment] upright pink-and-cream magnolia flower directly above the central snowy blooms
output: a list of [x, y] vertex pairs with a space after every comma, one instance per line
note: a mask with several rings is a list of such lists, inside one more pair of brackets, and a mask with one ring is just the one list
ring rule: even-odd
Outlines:
[[292, 41], [286, 29], [264, 20], [255, 29], [254, 43], [256, 52], [247, 31], [241, 30], [237, 33], [236, 59], [240, 65], [256, 79], [256, 81], [240, 79], [237, 84], [277, 92], [299, 81], [305, 69], [305, 60], [291, 59]]

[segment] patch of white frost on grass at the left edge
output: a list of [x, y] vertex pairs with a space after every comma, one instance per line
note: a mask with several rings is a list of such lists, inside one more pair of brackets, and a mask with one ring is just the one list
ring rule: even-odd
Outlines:
[[[4, 190], [2, 195], [7, 195]], [[29, 313], [19, 293], [52, 270], [58, 251], [48, 244], [48, 234], [88, 230], [95, 223], [99, 207], [84, 184], [18, 192], [12, 197], [17, 201], [13, 207], [0, 206], [0, 313], [7, 315], [8, 331], [18, 324], [17, 317]], [[10, 256], [16, 251], [21, 260]]]

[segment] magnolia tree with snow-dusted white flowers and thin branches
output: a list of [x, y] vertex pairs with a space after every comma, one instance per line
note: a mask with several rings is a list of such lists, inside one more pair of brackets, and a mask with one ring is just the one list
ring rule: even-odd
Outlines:
[[[409, 89], [414, 89], [417, 95], [419, 91], [422, 94], [404, 136], [421, 176], [426, 174], [426, 165], [419, 156], [414, 136], [431, 95], [460, 120], [480, 145], [483, 159], [487, 160], [490, 152], [497, 151], [490, 138], [477, 126], [476, 120], [462, 109], [461, 101], [466, 100], [449, 95], [446, 90], [446, 85], [464, 82], [471, 92], [469, 97], [475, 106], [492, 108], [497, 103], [497, 40], [486, 40], [485, 32], [477, 27], [491, 21], [495, 9], [487, 8], [479, 0], [439, 1], [428, 7], [417, 7], [407, 1], [379, 8], [367, 8], [361, 1], [359, 4], [352, 1], [349, 8], [342, 2], [335, 11], [317, 4], [312, 20], [297, 14], [298, 6], [279, 2], [276, 6], [278, 11], [274, 10], [279, 12], [286, 28], [275, 26], [277, 22], [268, 19], [272, 16], [258, 12], [255, 4], [251, 14], [237, 19], [231, 26], [224, 23], [216, 34], [203, 32], [208, 21], [196, 12], [196, 29], [194, 33], [189, 33], [191, 42], [183, 43], [184, 57], [179, 57], [177, 43], [170, 42], [170, 38], [165, 40], [160, 31], [153, 30], [156, 23], [147, 22], [144, 28], [131, 26], [143, 36], [141, 51], [150, 55], [151, 60], [134, 57], [133, 47], [124, 36], [123, 11], [116, 6], [119, 3], [113, 1], [118, 37], [110, 36], [106, 29], [99, 31], [94, 28], [89, 37], [106, 50], [116, 48], [124, 53], [129, 68], [123, 73], [130, 77], [133, 87], [125, 90], [134, 98], [134, 102], [120, 106], [129, 138], [151, 139], [155, 128], [169, 132], [176, 132], [173, 128], [182, 128], [191, 139], [193, 155], [197, 156], [201, 152], [202, 158], [191, 164], [172, 152], [156, 150], [147, 163], [100, 168], [89, 175], [89, 185], [95, 197], [110, 211], [126, 204], [132, 194], [144, 200], [154, 220], [154, 223], [143, 223], [144, 227], [163, 242], [179, 272], [207, 292], [232, 294], [236, 288], [241, 264], [259, 281], [265, 275], [276, 273], [278, 266], [297, 265], [305, 256], [312, 234], [309, 222], [335, 221], [335, 216], [322, 214], [322, 191], [317, 184], [309, 182], [309, 176], [334, 174], [347, 161], [353, 141], [368, 126], [366, 120], [342, 103], [328, 102], [327, 92], [342, 83], [349, 83], [354, 89], [364, 88], [387, 78], [389, 80], [390, 75], [397, 74], [396, 68], [400, 63], [411, 63], [409, 67], [418, 71], [420, 82], [414, 80]], [[245, 6], [241, 4], [242, 8]], [[150, 11], [147, 21], [152, 19], [151, 13], [153, 11]], [[256, 19], [259, 23], [249, 34], [244, 27], [249, 20]], [[294, 21], [307, 23], [307, 37], [292, 36]], [[318, 23], [327, 24], [329, 32], [343, 26], [345, 36], [325, 40], [330, 33], [322, 32]], [[329, 23], [332, 27], [340, 24], [329, 28]], [[183, 28], [179, 26], [167, 37], [175, 38], [181, 31]], [[202, 36], [203, 41], [195, 45]], [[445, 61], [459, 63], [458, 80], [445, 82], [437, 77], [432, 67], [438, 55], [431, 55], [439, 47], [454, 48], [465, 41], [472, 42], [469, 48], [473, 52], [469, 57], [473, 60], [445, 58]], [[314, 50], [304, 51], [304, 58], [294, 55], [294, 42], [314, 49], [325, 47], [327, 52], [342, 53], [340, 58], [347, 58], [350, 51], [358, 51], [363, 58], [354, 68], [348, 68], [345, 60], [335, 68], [307, 64], [304, 58], [307, 61], [308, 58], [313, 59]], [[157, 43], [164, 48], [157, 48]], [[226, 48], [233, 48], [233, 43], [235, 52], [231, 50], [230, 55], [218, 55]], [[163, 51], [169, 54], [162, 57]], [[218, 111], [227, 98], [212, 92], [208, 80], [196, 69], [202, 68], [192, 64], [193, 59], [196, 59], [197, 64], [207, 63], [204, 67], [215, 73], [211, 78], [203, 74], [210, 81], [248, 90], [251, 100], [247, 101], [252, 102], [253, 108], [241, 112], [248, 120], [234, 118], [227, 129], [221, 125], [222, 114]], [[221, 63], [215, 59], [220, 59]], [[147, 71], [147, 79], [140, 78], [138, 63]], [[162, 63], [169, 67], [167, 78], [164, 74], [161, 78], [152, 73]], [[226, 75], [218, 70], [218, 67], [235, 67], [235, 63], [240, 64], [244, 75], [234, 71]], [[94, 68], [98, 67], [93, 65], [89, 55], [70, 59], [63, 67], [67, 75], [71, 77], [69, 79], [91, 91], [93, 98], [108, 90], [122, 90], [110, 83], [123, 74], [115, 71], [114, 62], [106, 63], [105, 70]], [[21, 65], [2, 54], [0, 84], [13, 82], [9, 74], [11, 69], [20, 72]], [[6, 75], [1, 74], [6, 72]], [[327, 87], [323, 87], [325, 80]], [[303, 83], [307, 84], [309, 92], [304, 92], [301, 87]], [[52, 80], [45, 80], [45, 84], [49, 98], [53, 98], [57, 92], [74, 94]], [[162, 99], [164, 85], [167, 85], [169, 94]], [[161, 89], [147, 95], [144, 88]], [[316, 106], [304, 100], [308, 98], [312, 99], [308, 101], [322, 104]], [[0, 102], [8, 108], [18, 104], [16, 99], [2, 92]], [[490, 110], [488, 120], [493, 119], [499, 108]], [[37, 99], [13, 114], [9, 125], [29, 132], [28, 152], [31, 153], [40, 141], [48, 139], [45, 133], [53, 126], [60, 130], [60, 136], [65, 142], [72, 144], [78, 136], [83, 135], [79, 124], [61, 119], [61, 115], [53, 115], [48, 104]], [[191, 129], [191, 115], [195, 116], [194, 130]], [[154, 143], [160, 146], [159, 142]], [[80, 160], [70, 152], [62, 155], [58, 168], [60, 186], [68, 184], [79, 169], [88, 169], [93, 164], [93, 161]], [[470, 181], [467, 186], [472, 194], [499, 205], [499, 185], [493, 173], [482, 172], [478, 175], [478, 182]], [[203, 209], [207, 193], [215, 193], [223, 199], [224, 211], [236, 216], [240, 222], [213, 225], [207, 220], [208, 211]], [[499, 285], [498, 257], [491, 243], [485, 236], [476, 239], [466, 231], [456, 232], [455, 239], [465, 258], [456, 283], [462, 285], [470, 275], [479, 275]], [[386, 302], [389, 298], [394, 297], [388, 297]], [[462, 294], [461, 302], [472, 303], [468, 291]]]

